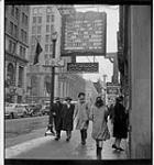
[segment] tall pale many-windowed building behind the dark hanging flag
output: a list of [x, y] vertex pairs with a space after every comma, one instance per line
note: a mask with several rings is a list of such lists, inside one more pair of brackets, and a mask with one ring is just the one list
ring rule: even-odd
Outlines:
[[[55, 6], [31, 6], [30, 7], [30, 48], [29, 48], [29, 70], [28, 70], [28, 101], [44, 100], [50, 97], [51, 67], [50, 61], [53, 57], [53, 32], [57, 32], [56, 54], [61, 55], [61, 29], [62, 16]], [[38, 64], [33, 65], [36, 43], [40, 43], [42, 53], [38, 57]], [[58, 72], [58, 69], [56, 69]], [[58, 90], [58, 76], [55, 76], [55, 96]]]

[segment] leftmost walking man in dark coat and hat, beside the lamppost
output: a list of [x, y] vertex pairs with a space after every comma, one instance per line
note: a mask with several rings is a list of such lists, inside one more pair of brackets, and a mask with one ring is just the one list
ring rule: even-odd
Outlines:
[[62, 131], [62, 108], [63, 103], [61, 102], [59, 98], [55, 99], [55, 103], [53, 106], [53, 117], [54, 117], [54, 124], [56, 130], [56, 138], [55, 140], [58, 141], [61, 139], [61, 131]]

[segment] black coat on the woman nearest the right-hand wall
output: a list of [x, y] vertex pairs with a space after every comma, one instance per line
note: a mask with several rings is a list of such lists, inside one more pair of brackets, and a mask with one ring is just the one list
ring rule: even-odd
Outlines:
[[113, 112], [113, 136], [119, 139], [127, 139], [128, 136], [128, 116], [125, 108], [117, 102]]

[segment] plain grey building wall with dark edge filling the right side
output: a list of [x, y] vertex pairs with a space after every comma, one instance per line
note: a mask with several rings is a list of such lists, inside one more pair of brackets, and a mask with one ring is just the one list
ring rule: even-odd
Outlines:
[[118, 65], [129, 111], [128, 154], [131, 158], [152, 156], [151, 11], [151, 6], [120, 7]]

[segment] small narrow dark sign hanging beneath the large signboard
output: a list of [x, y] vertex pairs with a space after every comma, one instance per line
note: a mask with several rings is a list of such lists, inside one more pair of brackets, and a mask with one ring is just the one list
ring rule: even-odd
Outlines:
[[67, 72], [70, 73], [98, 73], [98, 63], [68, 63]]

